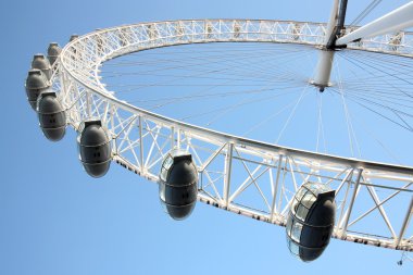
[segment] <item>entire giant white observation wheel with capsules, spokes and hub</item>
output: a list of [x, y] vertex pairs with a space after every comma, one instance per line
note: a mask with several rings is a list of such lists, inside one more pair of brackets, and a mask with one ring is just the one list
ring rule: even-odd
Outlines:
[[[362, 27], [345, 25], [346, 9], [335, 0], [328, 24], [179, 20], [72, 36], [34, 57], [27, 98], [48, 139], [67, 126], [78, 133], [90, 176], [115, 162], [158, 183], [174, 220], [200, 201], [285, 226], [302, 261], [318, 258], [331, 237], [411, 252], [413, 166], [381, 138], [410, 146], [413, 133], [413, 33], [402, 30], [413, 26], [413, 3]], [[291, 127], [296, 116], [310, 122], [309, 110], [312, 132]], [[259, 127], [273, 139], [247, 137]], [[327, 132], [338, 134], [330, 140]], [[363, 142], [377, 143], [384, 161], [364, 160]]]

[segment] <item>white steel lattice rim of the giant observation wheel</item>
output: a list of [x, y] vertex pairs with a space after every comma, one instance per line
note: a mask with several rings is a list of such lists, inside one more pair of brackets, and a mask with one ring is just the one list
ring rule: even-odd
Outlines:
[[[354, 29], [348, 27], [346, 32]], [[192, 178], [198, 178], [198, 201], [279, 226], [287, 225], [298, 191], [315, 183], [335, 190], [333, 195], [329, 191], [336, 201], [331, 204], [336, 212], [333, 238], [413, 251], [413, 167], [287, 148], [187, 124], [116, 98], [100, 76], [104, 62], [143, 50], [210, 42], [317, 48], [327, 32], [327, 24], [271, 20], [167, 21], [100, 29], [75, 37], [59, 52], [48, 91], [55, 95], [64, 111], [62, 120], [75, 130], [85, 132], [85, 122], [99, 122], [91, 124], [96, 132], [104, 130], [99, 146], [109, 154], [97, 163], [112, 160], [159, 183], [164, 160], [171, 152], [185, 151], [196, 167]], [[410, 60], [413, 33], [351, 41], [347, 49]], [[39, 101], [37, 104], [39, 111]], [[85, 158], [80, 155], [84, 164]], [[109, 164], [101, 174], [108, 168]], [[395, 201], [397, 204], [391, 204]], [[300, 230], [289, 228], [287, 235], [299, 236]], [[290, 247], [298, 253], [293, 249]]]

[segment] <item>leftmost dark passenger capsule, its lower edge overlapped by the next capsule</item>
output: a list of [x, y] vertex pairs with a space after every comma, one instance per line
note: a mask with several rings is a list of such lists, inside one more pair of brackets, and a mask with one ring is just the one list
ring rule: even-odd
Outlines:
[[37, 98], [40, 92], [47, 91], [49, 89], [49, 83], [40, 70], [32, 68], [28, 71], [25, 87], [28, 103], [30, 103], [33, 110], [36, 111]]

